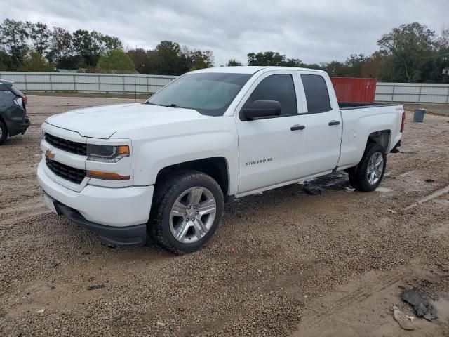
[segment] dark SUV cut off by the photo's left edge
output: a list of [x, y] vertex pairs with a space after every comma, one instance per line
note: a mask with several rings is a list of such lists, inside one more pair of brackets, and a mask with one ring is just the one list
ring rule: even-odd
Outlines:
[[27, 96], [13, 82], [0, 79], [0, 145], [8, 135], [22, 135], [29, 126], [27, 117]]

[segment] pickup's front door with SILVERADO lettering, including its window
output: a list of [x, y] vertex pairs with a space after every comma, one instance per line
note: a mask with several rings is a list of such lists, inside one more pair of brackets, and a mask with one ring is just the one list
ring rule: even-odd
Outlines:
[[[241, 100], [234, 119], [239, 134], [239, 193], [302, 176], [307, 128], [294, 71], [261, 74]], [[241, 108], [255, 100], [277, 100], [281, 116], [246, 121]], [[299, 103], [299, 107], [298, 107]]]

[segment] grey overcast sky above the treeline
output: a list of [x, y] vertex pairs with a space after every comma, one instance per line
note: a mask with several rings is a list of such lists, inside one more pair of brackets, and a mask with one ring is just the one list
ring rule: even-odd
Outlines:
[[0, 20], [41, 21], [73, 32], [115, 35], [123, 46], [161, 40], [210, 49], [215, 65], [279, 51], [304, 62], [370, 54], [382, 34], [403, 23], [449, 28], [449, 0], [0, 0]]

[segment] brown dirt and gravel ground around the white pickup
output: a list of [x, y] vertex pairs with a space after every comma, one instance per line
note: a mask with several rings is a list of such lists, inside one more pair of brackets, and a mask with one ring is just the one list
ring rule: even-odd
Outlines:
[[[206, 248], [173, 256], [102, 244], [43, 203], [40, 124], [123, 101], [30, 96], [32, 126], [0, 147], [0, 336], [449, 336], [448, 117], [408, 112], [376, 192], [337, 173], [319, 195], [236, 199]], [[439, 318], [402, 330], [401, 286]]]

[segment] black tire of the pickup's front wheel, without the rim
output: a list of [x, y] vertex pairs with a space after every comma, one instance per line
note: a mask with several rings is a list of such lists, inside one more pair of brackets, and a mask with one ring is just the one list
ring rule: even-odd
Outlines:
[[[215, 218], [210, 229], [193, 243], [178, 241], [170, 230], [170, 213], [178, 197], [192, 187], [204, 187], [213, 194], [216, 205]], [[220, 225], [225, 201], [220, 185], [205, 173], [193, 170], [181, 171], [163, 178], [156, 186], [148, 231], [161, 246], [176, 254], [192, 253], [204, 246]]]

